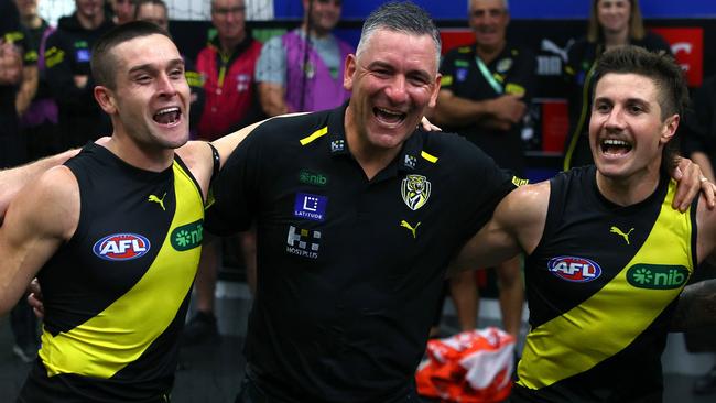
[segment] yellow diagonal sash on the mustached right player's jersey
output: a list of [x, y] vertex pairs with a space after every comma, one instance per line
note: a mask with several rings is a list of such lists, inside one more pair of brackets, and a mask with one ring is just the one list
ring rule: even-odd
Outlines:
[[[639, 263], [683, 265], [693, 273], [691, 213], [671, 208], [674, 194], [671, 181], [649, 237], [614, 280], [584, 303], [530, 331], [518, 367], [520, 385], [541, 389], [588, 371], [629, 347], [679, 296], [683, 285], [648, 290], [627, 280], [629, 268]], [[634, 304], [639, 306], [627, 308]]]

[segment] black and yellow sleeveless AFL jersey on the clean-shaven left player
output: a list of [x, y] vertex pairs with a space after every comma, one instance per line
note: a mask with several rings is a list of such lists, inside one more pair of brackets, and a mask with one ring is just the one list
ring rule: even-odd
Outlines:
[[79, 222], [39, 274], [41, 363], [21, 401], [161, 402], [200, 254], [199, 186], [178, 157], [148, 172], [95, 144], [66, 165]]

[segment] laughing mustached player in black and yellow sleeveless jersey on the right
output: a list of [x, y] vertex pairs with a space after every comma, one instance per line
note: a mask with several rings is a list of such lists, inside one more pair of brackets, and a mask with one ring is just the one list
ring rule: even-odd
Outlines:
[[531, 330], [512, 401], [660, 402], [668, 331], [713, 322], [716, 281], [684, 286], [714, 251], [716, 213], [703, 199], [669, 208], [669, 144], [686, 99], [670, 56], [605, 52], [589, 122], [596, 167], [512, 192], [466, 246], [457, 268], [528, 254]]

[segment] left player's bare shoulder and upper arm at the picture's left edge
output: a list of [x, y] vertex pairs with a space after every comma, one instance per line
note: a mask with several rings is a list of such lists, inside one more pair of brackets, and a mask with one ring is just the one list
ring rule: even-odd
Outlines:
[[0, 316], [72, 237], [78, 219], [79, 188], [66, 166], [46, 172], [12, 200], [0, 227]]

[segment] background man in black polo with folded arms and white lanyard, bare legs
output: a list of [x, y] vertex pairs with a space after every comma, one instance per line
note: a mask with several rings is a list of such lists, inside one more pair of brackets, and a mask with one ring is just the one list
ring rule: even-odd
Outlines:
[[[507, 0], [470, 0], [468, 22], [475, 43], [448, 51], [441, 64], [443, 78], [435, 123], [465, 135], [500, 167], [523, 176], [522, 118], [535, 85], [535, 56], [507, 41]], [[503, 328], [516, 337], [524, 304], [521, 269], [520, 258], [497, 268]], [[449, 280], [460, 330], [477, 327], [479, 299], [475, 275], [465, 271]]]

